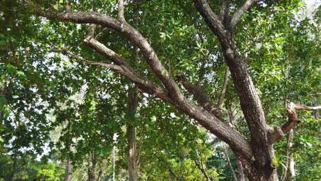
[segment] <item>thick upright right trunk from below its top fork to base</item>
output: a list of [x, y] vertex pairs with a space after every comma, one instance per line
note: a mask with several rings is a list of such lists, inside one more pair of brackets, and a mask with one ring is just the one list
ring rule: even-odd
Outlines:
[[[230, 41], [234, 42], [232, 37], [230, 37]], [[252, 163], [246, 168], [248, 176], [250, 180], [278, 180], [276, 168], [272, 165], [274, 149], [273, 144], [270, 143], [269, 127], [265, 123], [261, 101], [248, 75], [243, 57], [235, 43], [232, 45], [222, 43], [222, 50], [237, 88], [241, 109], [251, 132], [254, 157]], [[244, 87], [244, 84], [247, 86]]]

